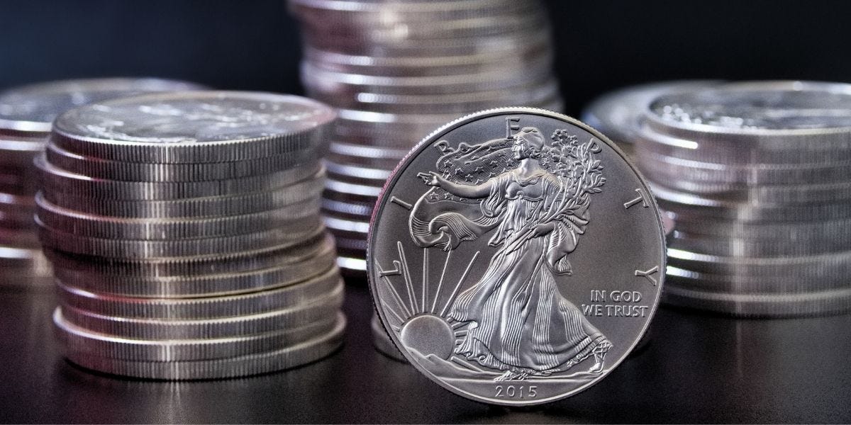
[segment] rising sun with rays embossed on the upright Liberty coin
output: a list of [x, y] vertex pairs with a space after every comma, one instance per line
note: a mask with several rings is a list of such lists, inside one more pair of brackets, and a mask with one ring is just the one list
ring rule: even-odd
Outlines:
[[460, 277], [454, 279], [451, 271], [448, 274], [449, 264], [454, 261], [453, 251], [447, 251], [437, 285], [433, 286], [429, 258], [432, 251], [443, 253], [422, 248], [422, 279], [417, 281], [411, 277], [411, 263], [401, 241], [397, 241], [399, 259], [392, 260], [392, 268], [386, 269], [376, 262], [380, 279], [378, 286], [387, 295], [379, 297], [381, 308], [386, 313], [385, 326], [396, 334], [405, 348], [415, 350], [423, 357], [435, 356], [470, 371], [482, 371], [477, 365], [471, 365], [454, 354], [454, 348], [463, 341], [470, 323], [447, 317], [481, 252], [475, 252]]

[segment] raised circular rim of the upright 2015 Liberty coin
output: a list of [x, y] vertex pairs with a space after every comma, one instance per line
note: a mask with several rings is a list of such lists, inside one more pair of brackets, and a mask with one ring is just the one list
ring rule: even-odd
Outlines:
[[[617, 156], [620, 156], [620, 159], [625, 162], [625, 165], [627, 167], [629, 167], [629, 169], [632, 171], [632, 173], [635, 173], [639, 183], [642, 184], [643, 189], [646, 190], [647, 193], [651, 195], [650, 196], [650, 199], [651, 199], [650, 202], [653, 203], [657, 225], [659, 226], [659, 230], [660, 230], [660, 232], [659, 232], [660, 253], [661, 253], [661, 258], [660, 258], [661, 266], [660, 266], [660, 268], [665, 269], [665, 264], [667, 263], [667, 261], [666, 261], [667, 249], [666, 249], [666, 244], [665, 244], [665, 227], [664, 227], [664, 224], [662, 223], [661, 210], [658, 207], [658, 205], [656, 205], [656, 201], [655, 201], [654, 196], [653, 196], [653, 191], [650, 189], [650, 186], [648, 184], [648, 180], [643, 177], [643, 174], [628, 159], [626, 154], [622, 150], [620, 150], [620, 148], [616, 144], [614, 144], [613, 141], [608, 139], [605, 135], [603, 135], [603, 133], [600, 133], [597, 130], [595, 130], [594, 128], [589, 127], [587, 124], [580, 122], [580, 121], [578, 121], [574, 118], [571, 118], [569, 116], [565, 116], [563, 114], [553, 112], [553, 111], [547, 111], [547, 110], [538, 109], [538, 108], [529, 108], [529, 107], [524, 107], [524, 106], [511, 106], [511, 107], [503, 107], [503, 108], [495, 108], [495, 109], [489, 109], [489, 110], [484, 110], [484, 111], [478, 111], [478, 112], [474, 112], [470, 115], [461, 116], [460, 118], [457, 118], [452, 122], [448, 122], [447, 124], [443, 125], [443, 127], [437, 128], [437, 130], [434, 130], [429, 135], [427, 135], [424, 139], [420, 140], [420, 143], [416, 144], [414, 146], [414, 148], [412, 148], [408, 152], [408, 155], [405, 156], [403, 158], [403, 160], [399, 162], [397, 167], [395, 169], [393, 169], [393, 171], [391, 173], [391, 177], [387, 178], [386, 183], [381, 188], [381, 193], [379, 195], [378, 201], [376, 201], [372, 217], [369, 220], [366, 268], [367, 268], [367, 276], [368, 276], [368, 280], [369, 280], [369, 292], [370, 292], [370, 295], [372, 296], [372, 299], [373, 299], [374, 309], [376, 311], [376, 314], [378, 314], [382, 325], [385, 325], [387, 320], [384, 317], [383, 309], [380, 309], [378, 307], [378, 303], [375, 303], [375, 300], [378, 299], [376, 291], [375, 291], [375, 287], [374, 287], [376, 284], [375, 284], [374, 279], [373, 279], [373, 273], [369, 269], [372, 268], [371, 264], [374, 261], [372, 251], [373, 251], [373, 246], [375, 245], [375, 240], [374, 240], [374, 238], [375, 238], [375, 233], [374, 233], [375, 222], [376, 222], [376, 220], [379, 216], [379, 213], [384, 210], [384, 207], [386, 207], [386, 203], [389, 201], [389, 199], [386, 197], [386, 194], [389, 193], [391, 191], [392, 187], [396, 185], [398, 178], [401, 177], [402, 173], [410, 165], [410, 162], [413, 161], [414, 157], [418, 156], [422, 150], [425, 150], [428, 146], [430, 146], [433, 143], [433, 141], [437, 140], [438, 136], [445, 134], [445, 133], [448, 133], [449, 131], [452, 131], [455, 128], [460, 127], [460, 126], [464, 125], [465, 123], [470, 122], [472, 120], [477, 120], [477, 119], [481, 119], [481, 118], [488, 117], [488, 116], [499, 116], [499, 115], [508, 114], [508, 113], [544, 116], [544, 117], [547, 117], [547, 118], [558, 120], [560, 122], [566, 122], [566, 123], [569, 123], [570, 125], [572, 125], [574, 127], [579, 127], [582, 130], [585, 130], [586, 132], [591, 133], [591, 135], [593, 135], [595, 138], [603, 141], [604, 144], [608, 144], [608, 147], [610, 149], [614, 150], [614, 153]], [[637, 344], [641, 341], [643, 336], [647, 333], [648, 327], [650, 326], [650, 322], [652, 321], [652, 319], [653, 319], [653, 317], [656, 313], [656, 310], [659, 309], [660, 298], [661, 298], [661, 294], [662, 294], [663, 288], [664, 288], [664, 280], [665, 280], [665, 275], [661, 274], [660, 280], [657, 283], [657, 291], [659, 293], [659, 296], [656, 297], [655, 303], [649, 309], [648, 320], [644, 323], [642, 330], [638, 332], [635, 339], [632, 341], [630, 347], [625, 350], [625, 354], [619, 360], [617, 360], [614, 363], [614, 365], [610, 366], [608, 368], [608, 371], [603, 372], [603, 374], [601, 376], [597, 377], [594, 380], [591, 380], [591, 382], [587, 382], [584, 385], [581, 385], [579, 388], [574, 388], [572, 391], [570, 391], [568, 393], [559, 394], [557, 396], [553, 396], [553, 397], [550, 397], [548, 399], [535, 399], [534, 401], [511, 401], [511, 400], [504, 400], [504, 399], [488, 399], [488, 398], [485, 398], [485, 397], [478, 395], [478, 394], [471, 394], [471, 393], [468, 393], [468, 392], [461, 390], [460, 388], [455, 388], [453, 386], [449, 386], [445, 382], [441, 381], [440, 378], [435, 377], [433, 374], [431, 374], [431, 371], [428, 371], [425, 367], [422, 367], [421, 365], [419, 365], [419, 363], [417, 363], [411, 357], [409, 357], [410, 354], [408, 354], [407, 350], [400, 348], [400, 351], [402, 351], [403, 355], [408, 360], [408, 363], [411, 363], [412, 365], [414, 365], [414, 367], [418, 371], [420, 371], [421, 373], [426, 375], [426, 377], [428, 377], [432, 382], [437, 383], [437, 385], [440, 385], [442, 388], [448, 389], [448, 391], [450, 391], [454, 394], [458, 394], [460, 396], [463, 396], [465, 399], [473, 399], [475, 401], [479, 401], [479, 402], [482, 402], [482, 403], [488, 403], [488, 404], [494, 404], [494, 405], [540, 405], [540, 404], [543, 404], [543, 403], [556, 401], [558, 399], [565, 399], [565, 398], [568, 398], [568, 397], [570, 397], [574, 394], [579, 394], [580, 392], [584, 391], [587, 388], [590, 388], [591, 386], [593, 386], [597, 382], [600, 382], [603, 378], [608, 377], [608, 375], [611, 373], [611, 371], [614, 371], [615, 369], [617, 369], [617, 367], [627, 357], [629, 357], [629, 354], [631, 353], [631, 351], [637, 346]], [[386, 329], [386, 327], [387, 326], [385, 326], [385, 331], [391, 337], [391, 341], [393, 342], [394, 345], [399, 347], [400, 344], [395, 339], [396, 338], [395, 333], [388, 331]]]

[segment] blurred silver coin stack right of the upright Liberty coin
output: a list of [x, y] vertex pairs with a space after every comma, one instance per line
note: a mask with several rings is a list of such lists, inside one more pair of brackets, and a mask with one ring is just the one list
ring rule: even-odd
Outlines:
[[762, 317], [851, 307], [851, 85], [663, 95], [636, 155], [675, 221], [667, 303]]

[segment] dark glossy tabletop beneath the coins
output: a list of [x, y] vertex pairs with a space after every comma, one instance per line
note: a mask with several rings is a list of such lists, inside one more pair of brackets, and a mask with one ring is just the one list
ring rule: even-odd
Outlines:
[[505, 408], [450, 394], [372, 347], [363, 282], [346, 344], [289, 371], [157, 382], [58, 354], [49, 290], [0, 289], [0, 422], [851, 422], [851, 314], [735, 320], [660, 309], [649, 340], [597, 385]]

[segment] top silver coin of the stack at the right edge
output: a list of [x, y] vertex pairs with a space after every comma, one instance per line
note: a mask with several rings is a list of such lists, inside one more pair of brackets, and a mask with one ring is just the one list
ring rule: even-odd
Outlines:
[[655, 99], [643, 149], [728, 164], [851, 159], [851, 84], [740, 82]]

